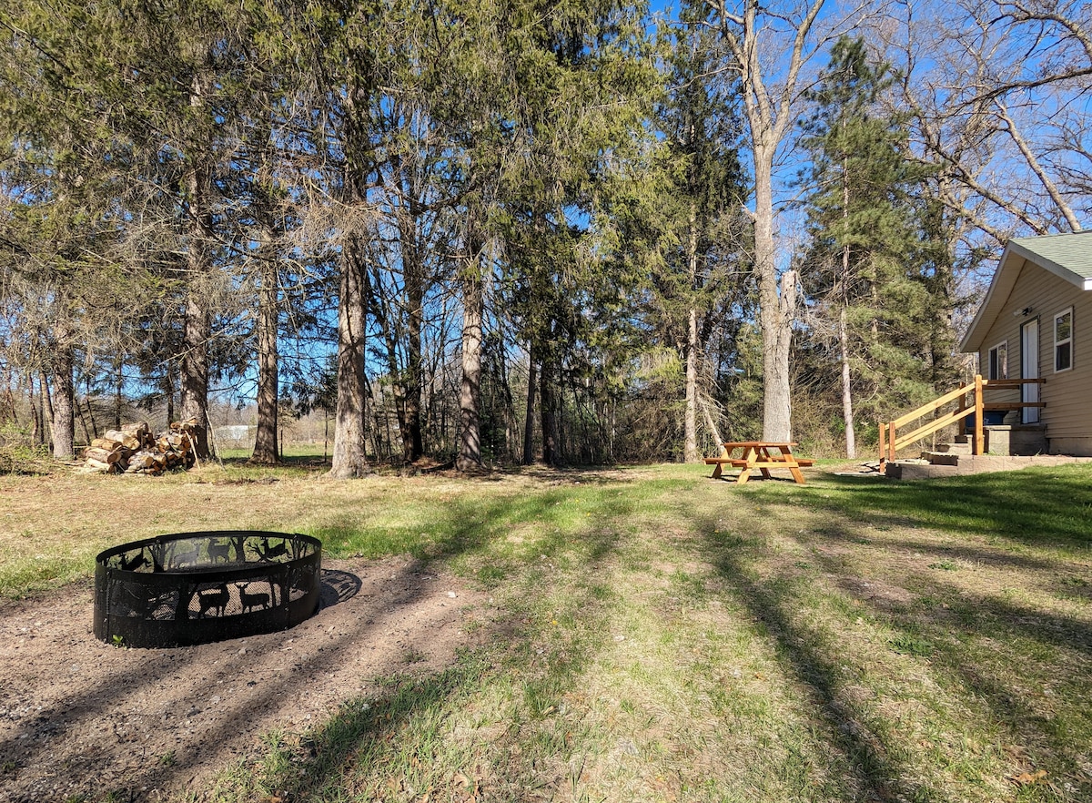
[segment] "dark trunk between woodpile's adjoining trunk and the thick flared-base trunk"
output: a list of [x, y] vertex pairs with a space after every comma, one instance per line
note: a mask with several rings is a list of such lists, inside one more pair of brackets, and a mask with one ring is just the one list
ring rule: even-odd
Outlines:
[[277, 284], [276, 255], [272, 233], [264, 232], [259, 248], [258, 288], [258, 430], [250, 462], [272, 465], [281, 462], [277, 450]]

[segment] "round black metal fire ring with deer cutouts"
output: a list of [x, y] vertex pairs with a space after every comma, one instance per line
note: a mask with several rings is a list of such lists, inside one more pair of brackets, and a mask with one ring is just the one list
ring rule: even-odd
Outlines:
[[322, 542], [219, 530], [133, 541], [95, 558], [95, 637], [182, 647], [286, 630], [319, 606]]

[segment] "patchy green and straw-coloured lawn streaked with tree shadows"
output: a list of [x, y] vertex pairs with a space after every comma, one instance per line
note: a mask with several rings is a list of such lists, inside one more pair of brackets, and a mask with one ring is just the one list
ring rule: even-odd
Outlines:
[[122, 541], [247, 528], [412, 553], [492, 597], [485, 647], [269, 734], [194, 799], [1092, 800], [1092, 467], [707, 473], [4, 476], [0, 595]]

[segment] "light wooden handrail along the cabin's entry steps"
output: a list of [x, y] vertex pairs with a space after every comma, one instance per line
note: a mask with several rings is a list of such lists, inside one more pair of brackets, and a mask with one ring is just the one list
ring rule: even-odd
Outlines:
[[[986, 404], [984, 403], [983, 397], [986, 390], [1017, 390], [1022, 388], [1024, 385], [1043, 385], [1046, 380], [1042, 377], [1036, 377], [1035, 379], [983, 379], [981, 375], [974, 377], [973, 383], [963, 383], [956, 390], [949, 391], [943, 395], [930, 401], [927, 404], [923, 404], [916, 410], [901, 415], [894, 421], [880, 423], [880, 470], [886, 462], [894, 460], [895, 452], [899, 449], [903, 449], [915, 440], [919, 440], [924, 437], [931, 435], [938, 429], [942, 429], [946, 426], [950, 426], [959, 421], [963, 421], [966, 417], [974, 415], [974, 444], [973, 452], [975, 454], [982, 454], [984, 449], [984, 434], [983, 434], [983, 412], [987, 410], [1022, 410], [1023, 408], [1045, 408], [1045, 402], [1005, 402]], [[971, 394], [971, 403], [968, 403], [966, 395]], [[937, 412], [945, 404], [958, 401], [959, 408], [952, 412], [946, 413], [938, 418], [934, 418], [927, 424], [918, 426], [916, 429], [900, 436], [899, 427], [905, 426], [911, 422], [915, 422], [925, 415]]]

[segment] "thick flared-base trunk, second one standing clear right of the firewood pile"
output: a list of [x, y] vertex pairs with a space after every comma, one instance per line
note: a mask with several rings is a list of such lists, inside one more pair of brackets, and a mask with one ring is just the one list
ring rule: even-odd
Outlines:
[[337, 298], [337, 408], [330, 476], [340, 480], [371, 473], [365, 445], [368, 275], [359, 247], [360, 236], [353, 233], [345, 244]]

